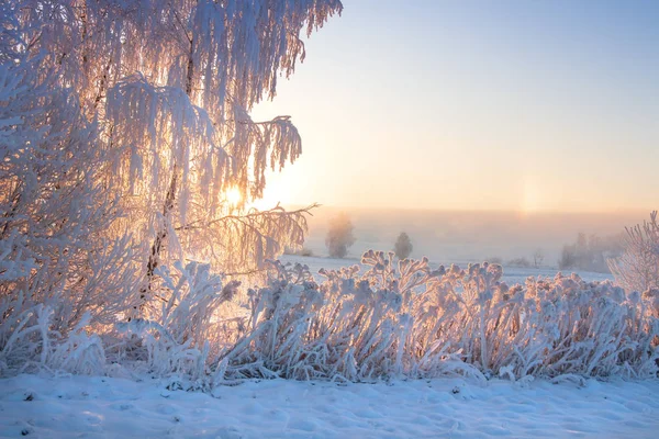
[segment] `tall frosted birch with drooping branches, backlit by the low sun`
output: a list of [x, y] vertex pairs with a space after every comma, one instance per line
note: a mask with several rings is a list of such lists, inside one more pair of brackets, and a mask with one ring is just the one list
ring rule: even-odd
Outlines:
[[[305, 211], [246, 210], [266, 170], [301, 153], [289, 116], [253, 121], [280, 76], [304, 58], [310, 34], [338, 0], [18, 0], [42, 54], [42, 74], [70, 88], [94, 122], [92, 148], [111, 160], [98, 181], [119, 195], [143, 255], [144, 299], [164, 260], [208, 260], [224, 272], [258, 269], [299, 246]], [[242, 202], [227, 201], [239, 191]], [[118, 235], [115, 235], [118, 236]], [[149, 294], [146, 294], [149, 293]]]

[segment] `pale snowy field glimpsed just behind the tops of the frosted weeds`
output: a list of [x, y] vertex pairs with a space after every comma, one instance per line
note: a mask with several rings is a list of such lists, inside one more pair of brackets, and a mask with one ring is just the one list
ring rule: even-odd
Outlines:
[[[286, 262], [300, 262], [309, 266], [309, 270], [312, 274], [316, 275], [319, 280], [323, 279], [317, 274], [321, 268], [325, 268], [328, 270], [337, 270], [342, 267], [360, 264], [358, 259], [333, 259], [333, 258], [321, 258], [321, 257], [303, 257], [295, 255], [283, 255], [281, 261]], [[450, 262], [444, 262], [445, 267], [450, 266]], [[462, 268], [467, 268], [468, 262], [466, 261], [457, 261], [458, 266]], [[439, 262], [435, 262], [431, 260], [432, 267], [438, 267]], [[520, 268], [520, 267], [510, 267], [503, 266], [503, 281], [509, 285], [513, 285], [515, 283], [524, 283], [526, 278], [554, 278], [559, 270], [552, 268]], [[577, 272], [584, 281], [604, 281], [604, 280], [613, 280], [611, 274], [604, 273], [593, 273], [589, 271], [578, 271]], [[568, 271], [563, 271], [563, 274], [569, 274]]]

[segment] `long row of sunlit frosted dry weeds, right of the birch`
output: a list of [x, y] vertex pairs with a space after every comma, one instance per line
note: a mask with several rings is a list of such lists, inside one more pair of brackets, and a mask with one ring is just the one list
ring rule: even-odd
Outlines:
[[501, 282], [498, 264], [432, 270], [369, 251], [362, 264], [322, 271], [276, 266], [253, 291], [245, 337], [215, 378], [371, 381], [470, 374], [521, 379], [650, 376], [658, 358], [655, 295], [578, 275]]

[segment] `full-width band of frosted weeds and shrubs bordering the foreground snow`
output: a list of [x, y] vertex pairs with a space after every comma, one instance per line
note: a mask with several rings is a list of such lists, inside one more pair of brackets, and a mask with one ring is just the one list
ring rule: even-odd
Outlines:
[[[164, 272], [170, 295], [152, 319], [53, 331], [35, 306], [2, 324], [3, 373], [38, 368], [134, 372], [198, 389], [252, 378], [376, 381], [469, 375], [565, 378], [657, 372], [659, 293], [626, 293], [577, 274], [501, 282], [499, 264], [431, 269], [369, 251], [322, 270], [271, 262], [267, 286], [242, 296], [208, 266]], [[237, 306], [241, 304], [242, 306]], [[3, 303], [7, 311], [7, 303]], [[11, 305], [9, 305], [11, 306]]]

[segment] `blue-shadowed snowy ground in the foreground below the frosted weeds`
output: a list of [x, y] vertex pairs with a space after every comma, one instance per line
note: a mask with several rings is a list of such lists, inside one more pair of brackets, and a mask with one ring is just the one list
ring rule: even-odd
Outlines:
[[656, 438], [659, 381], [337, 385], [260, 381], [213, 395], [158, 380], [0, 380], [0, 437]]

